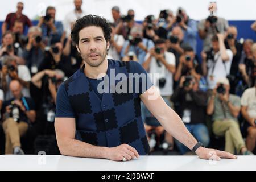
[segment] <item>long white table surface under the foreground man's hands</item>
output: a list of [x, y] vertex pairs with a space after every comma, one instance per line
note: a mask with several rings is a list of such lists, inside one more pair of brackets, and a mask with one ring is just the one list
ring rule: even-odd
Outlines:
[[0, 155], [0, 170], [256, 170], [256, 156], [238, 156], [238, 159], [220, 161], [203, 160], [197, 156], [139, 156], [139, 159], [115, 162], [63, 155]]

